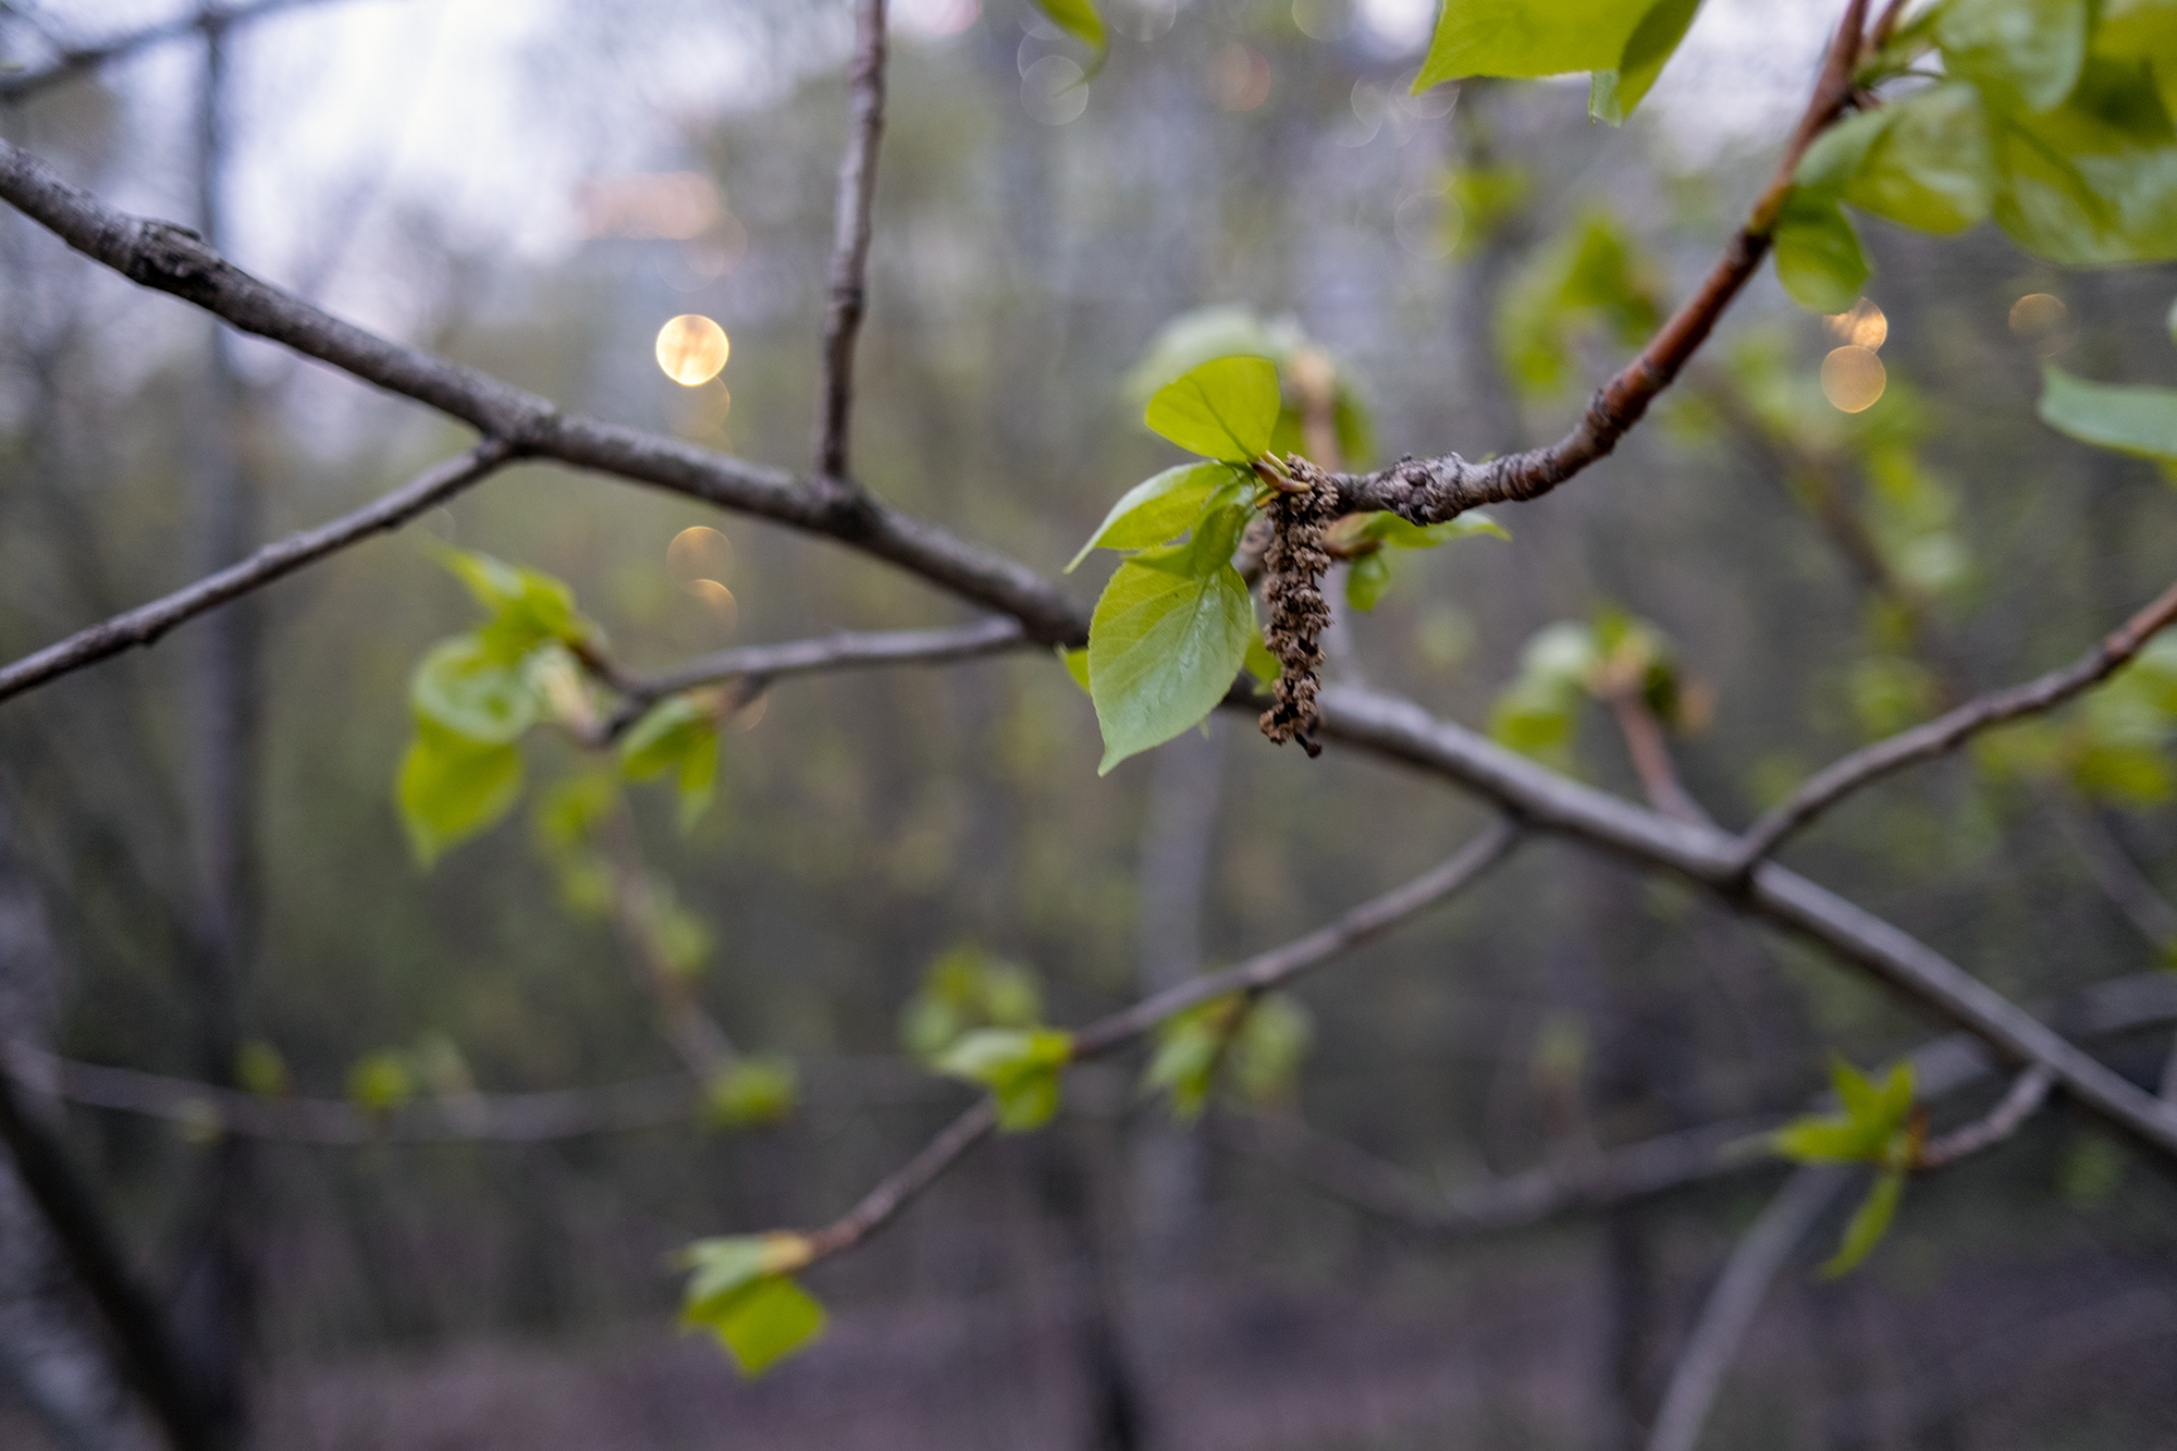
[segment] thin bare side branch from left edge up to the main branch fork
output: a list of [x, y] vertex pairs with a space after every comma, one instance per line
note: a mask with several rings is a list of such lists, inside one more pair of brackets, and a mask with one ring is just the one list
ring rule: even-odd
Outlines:
[[185, 619], [216, 610], [222, 603], [259, 590], [283, 575], [292, 575], [305, 564], [316, 564], [318, 560], [337, 553], [348, 545], [361, 542], [372, 534], [407, 523], [416, 514], [422, 514], [464, 488], [490, 477], [492, 471], [509, 458], [514, 458], [514, 449], [509, 444], [485, 440], [468, 453], [451, 458], [444, 464], [435, 464], [433, 468], [416, 475], [394, 492], [372, 499], [353, 514], [342, 514], [340, 519], [318, 525], [316, 529], [305, 529], [303, 534], [290, 534], [274, 545], [266, 545], [239, 564], [231, 564], [229, 569], [179, 588], [163, 599], [137, 606], [126, 614], [115, 614], [113, 619], [91, 625], [89, 630], [78, 630], [57, 645], [48, 645], [37, 654], [0, 667], [0, 699], [20, 695], [33, 686], [46, 684], [48, 680], [83, 669], [85, 664], [96, 664], [98, 660], [118, 656], [124, 649], [152, 645], [159, 636]]

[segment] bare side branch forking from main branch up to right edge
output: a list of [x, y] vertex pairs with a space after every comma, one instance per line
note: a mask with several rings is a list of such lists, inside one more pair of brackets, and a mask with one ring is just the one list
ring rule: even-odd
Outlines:
[[2118, 667], [2131, 660], [2131, 656], [2136, 656], [2147, 641], [2151, 641], [2155, 632], [2173, 619], [2177, 619], [2177, 584], [2166, 588], [2153, 603], [2112, 630], [2099, 645], [2094, 645], [2094, 649], [2064, 669], [2049, 671], [2038, 680], [2029, 680], [2027, 684], [2012, 686], [2007, 691], [1981, 695], [1979, 699], [1970, 699], [1957, 710], [1940, 715], [1924, 726], [1914, 726], [1911, 730], [1898, 732], [1887, 741], [1877, 741], [1866, 749], [1853, 752], [1844, 760], [1837, 760], [1816, 773], [1813, 780], [1794, 791], [1789, 800], [1755, 821], [1746, 834], [1739, 837], [1733, 869], [1752, 869], [1755, 863], [1770, 856], [1787, 837], [1803, 830], [1818, 815], [1868, 782], [1953, 752], [1990, 726], [2001, 726], [2025, 715], [2040, 715], [2062, 706], [2088, 686], [2116, 673]]

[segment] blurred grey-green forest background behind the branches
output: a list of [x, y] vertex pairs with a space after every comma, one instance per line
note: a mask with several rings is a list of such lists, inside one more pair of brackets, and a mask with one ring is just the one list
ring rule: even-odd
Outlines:
[[[536, 13], [327, 0], [207, 44], [185, 9], [9, 0], [0, 57], [33, 70], [185, 24], [22, 94], [0, 74], [0, 133], [342, 316], [799, 466], [845, 7], [505, 9]], [[1176, 318], [1335, 359], [1343, 444], [1365, 449], [1348, 464], [1554, 438], [1737, 224], [1833, 9], [1715, 0], [1613, 131], [1557, 83], [1409, 96], [1426, 15], [1391, 4], [1115, 0], [1110, 63], [1073, 85], [1080, 48], [1023, 0], [899, 0], [860, 475], [1056, 573], [1171, 462], [1139, 418]], [[464, 46], [492, 52], [470, 70]], [[501, 115], [440, 129], [468, 111], [433, 87], [470, 76], [466, 105]], [[1369, 612], [1341, 597], [1330, 673], [1637, 797], [1604, 702], [1520, 717], [1541, 632], [1637, 638], [1670, 664], [1685, 791], [1737, 826], [2162, 590], [2170, 479], [2057, 436], [2033, 399], [2042, 359], [2177, 381], [2177, 268], [2064, 272], [1985, 227], [1866, 237], [1868, 305], [1813, 318], [1757, 281], [1650, 427], [1498, 512], [1509, 542], [1400, 556]], [[7, 658], [462, 442], [15, 214], [0, 307]], [[679, 314], [729, 336], [714, 381], [660, 370]], [[1822, 364], [1870, 340], [1885, 386], [1842, 412]], [[1086, 1022], [1308, 932], [1489, 813], [1241, 719], [1099, 778], [1088, 697], [1041, 651], [782, 680], [734, 717], [692, 830], [668, 791], [631, 793], [697, 1013], [795, 1098], [779, 1122], [705, 1109], [686, 1004], [555, 869], [536, 802], [579, 771], [570, 745], [538, 743], [522, 808], [429, 871], [403, 839], [407, 678], [475, 623], [425, 540], [566, 580], [642, 671], [964, 619], [823, 540], [522, 464], [0, 706], [0, 1013], [81, 1070], [70, 1102], [28, 1102], [257, 1447], [1637, 1447], [1787, 1163], [1742, 1153], [1504, 1227], [1400, 1218], [1369, 1185], [1456, 1203], [1657, 1135], [1737, 1142], [1820, 1094], [1829, 1054], [1879, 1065], [1942, 1033], [1711, 898], [1530, 841], [1304, 980], [1306, 1059], [1258, 1100], [1176, 1124], [1139, 1059], [1078, 1070], [1049, 1129], [975, 1150], [814, 1270], [825, 1340], [742, 1381], [675, 1331], [671, 1257], [827, 1220], [971, 1102], [901, 1048], [934, 963], [1017, 965], [1047, 1022]], [[1069, 588], [1091, 599], [1104, 569]], [[2018, 1002], [2155, 974], [2177, 950], [2177, 721], [2073, 749], [2094, 708], [1877, 787], [1794, 863]], [[2096, 1052], [2153, 1085], [2170, 1017]], [[187, 1085], [361, 1107], [248, 1133]], [[559, 1089], [536, 1131], [462, 1115]], [[1916, 1181], [1857, 1272], [1816, 1279], [1848, 1209], [1792, 1253], [1705, 1444], [2177, 1447], [2166, 1163], [2057, 1105]], [[0, 1194], [0, 1444], [148, 1444], [70, 1340], [87, 1318], [57, 1275]]]

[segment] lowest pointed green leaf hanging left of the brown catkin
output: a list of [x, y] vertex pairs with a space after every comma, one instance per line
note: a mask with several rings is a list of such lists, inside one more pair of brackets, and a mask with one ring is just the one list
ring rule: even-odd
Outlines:
[[1097, 776], [1215, 710], [1250, 638], [1258, 638], [1254, 601], [1230, 564], [1206, 575], [1147, 556], [1121, 564], [1088, 623], [1088, 693], [1104, 732]]

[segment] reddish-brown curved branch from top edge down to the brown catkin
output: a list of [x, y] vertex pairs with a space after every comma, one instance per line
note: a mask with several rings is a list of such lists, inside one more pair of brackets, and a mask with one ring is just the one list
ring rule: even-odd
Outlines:
[[1413, 523], [1441, 523], [1465, 510], [1485, 503], [1524, 503], [1539, 499], [1565, 479], [1574, 477], [1596, 460], [1609, 455], [1648, 405], [1655, 403], [1687, 359], [1707, 342], [1724, 307], [1739, 294], [1746, 281], [1768, 255], [1770, 231], [1783, 209], [1785, 192], [1792, 190], [1792, 172], [1800, 157], [1831, 122], [1835, 122], [1853, 96], [1853, 70], [1861, 54], [1861, 28], [1866, 26], [1866, 0], [1853, 0], [1822, 61], [1822, 74], [1813, 85], [1807, 111], [1800, 115], [1785, 146], [1776, 172], [1755, 203], [1724, 255], [1709, 270], [1707, 281], [1678, 312], [1663, 322], [1663, 329], [1641, 349], [1641, 355], [1626, 364], [1618, 377], [1602, 386], [1587, 403], [1581, 423], [1561, 440], [1546, 449], [1509, 453], [1485, 464], [1469, 464], [1456, 453], [1428, 460], [1400, 460], [1376, 473], [1339, 473], [1332, 481], [1339, 490], [1341, 512], [1391, 510]]

